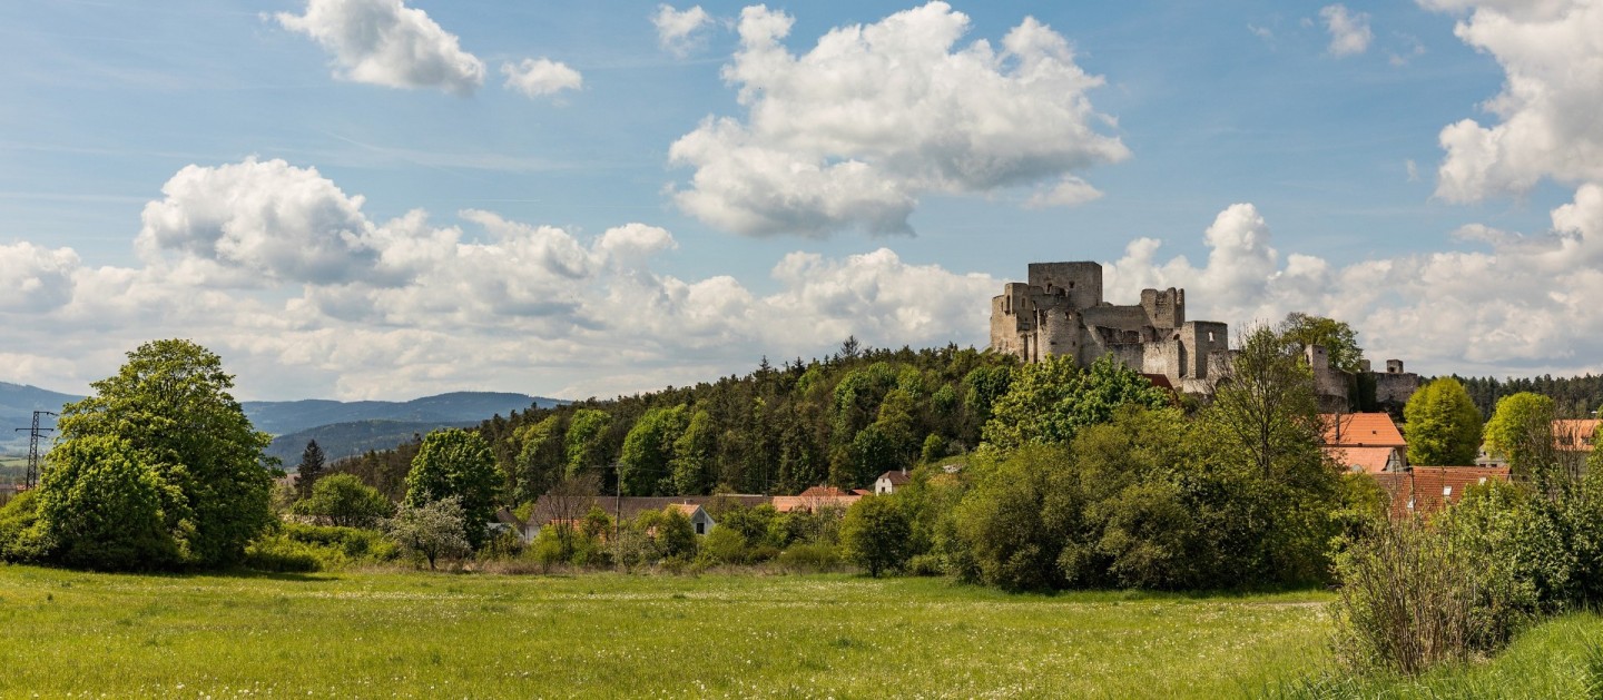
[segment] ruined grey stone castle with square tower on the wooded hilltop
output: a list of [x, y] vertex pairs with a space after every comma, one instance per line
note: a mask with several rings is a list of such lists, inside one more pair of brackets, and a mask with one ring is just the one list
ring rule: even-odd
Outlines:
[[1098, 263], [1031, 263], [1029, 282], [1008, 282], [991, 300], [991, 349], [1040, 362], [1071, 356], [1082, 367], [1114, 356], [1127, 367], [1164, 375], [1170, 386], [1207, 394], [1228, 364], [1230, 327], [1186, 320], [1186, 293], [1141, 290], [1141, 303], [1103, 301]]

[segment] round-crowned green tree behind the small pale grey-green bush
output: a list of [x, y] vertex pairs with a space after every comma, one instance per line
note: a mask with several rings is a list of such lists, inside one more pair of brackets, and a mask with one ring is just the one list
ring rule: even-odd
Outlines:
[[484, 543], [484, 525], [495, 516], [495, 490], [502, 476], [491, 445], [478, 432], [447, 428], [430, 432], [406, 476], [406, 505], [418, 508], [441, 498], [457, 498], [468, 522], [468, 541]]

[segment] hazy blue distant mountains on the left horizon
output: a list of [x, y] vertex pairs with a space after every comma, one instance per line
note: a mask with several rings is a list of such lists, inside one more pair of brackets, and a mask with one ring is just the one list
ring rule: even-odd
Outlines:
[[[27, 428], [35, 410], [61, 412], [63, 404], [82, 396], [61, 394], [37, 386], [0, 381], [0, 455], [27, 453]], [[316, 439], [327, 458], [359, 455], [388, 449], [438, 428], [474, 426], [494, 415], [524, 412], [529, 407], [550, 408], [559, 399], [494, 391], [455, 391], [412, 400], [247, 400], [245, 415], [258, 431], [277, 437], [268, 453], [284, 460], [285, 468], [300, 461], [306, 441]], [[55, 428], [53, 416], [40, 416], [42, 428]]]

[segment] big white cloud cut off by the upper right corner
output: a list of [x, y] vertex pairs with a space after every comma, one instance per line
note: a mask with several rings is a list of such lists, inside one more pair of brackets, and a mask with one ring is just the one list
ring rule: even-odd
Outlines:
[[1484, 104], [1497, 119], [1465, 119], [1441, 130], [1448, 152], [1436, 195], [1475, 202], [1523, 194], [1542, 178], [1603, 181], [1603, 2], [1468, 2], [1423, 5], [1468, 11], [1454, 34], [1497, 59], [1507, 74]]

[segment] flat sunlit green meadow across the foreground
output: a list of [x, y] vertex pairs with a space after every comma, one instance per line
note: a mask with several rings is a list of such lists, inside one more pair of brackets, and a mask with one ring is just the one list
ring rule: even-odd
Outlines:
[[853, 577], [0, 567], [0, 658], [13, 660], [0, 695], [1220, 697], [1316, 668], [1324, 601]]

